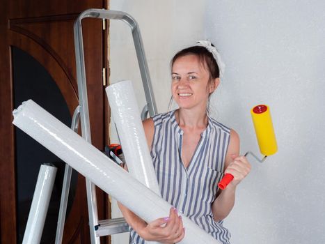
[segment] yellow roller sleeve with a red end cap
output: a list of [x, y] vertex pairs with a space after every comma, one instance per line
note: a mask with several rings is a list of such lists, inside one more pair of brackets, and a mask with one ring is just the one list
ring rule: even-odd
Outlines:
[[276, 153], [278, 146], [269, 107], [257, 105], [251, 109], [251, 114], [260, 152], [266, 156]]

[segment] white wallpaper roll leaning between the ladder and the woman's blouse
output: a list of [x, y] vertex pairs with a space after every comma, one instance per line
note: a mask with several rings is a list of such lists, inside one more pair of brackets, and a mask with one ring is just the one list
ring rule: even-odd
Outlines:
[[160, 195], [132, 82], [120, 81], [105, 91], [129, 173]]

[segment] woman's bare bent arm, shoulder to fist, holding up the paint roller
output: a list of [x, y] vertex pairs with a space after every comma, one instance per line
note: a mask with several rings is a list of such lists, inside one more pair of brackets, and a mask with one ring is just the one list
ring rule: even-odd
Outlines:
[[247, 176], [251, 165], [246, 157], [239, 156], [239, 136], [235, 130], [230, 130], [230, 142], [225, 155], [225, 174], [232, 174], [233, 180], [225, 190], [219, 192], [212, 204], [214, 220], [223, 220], [228, 216], [235, 204], [235, 192], [240, 181]]

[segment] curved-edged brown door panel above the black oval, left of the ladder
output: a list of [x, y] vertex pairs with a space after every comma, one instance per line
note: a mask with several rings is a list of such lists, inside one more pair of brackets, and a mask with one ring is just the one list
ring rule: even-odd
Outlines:
[[[51, 70], [62, 70], [75, 91], [77, 82], [72, 30], [76, 18], [77, 15], [60, 15], [9, 20], [10, 44], [24, 46], [26, 52]], [[47, 55], [43, 52], [47, 52]]]

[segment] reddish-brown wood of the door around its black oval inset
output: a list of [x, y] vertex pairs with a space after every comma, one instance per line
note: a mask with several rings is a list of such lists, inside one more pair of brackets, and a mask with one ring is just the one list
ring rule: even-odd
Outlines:
[[[1, 243], [19, 243], [17, 237], [17, 165], [12, 111], [15, 101], [15, 53], [35, 59], [53, 79], [72, 116], [78, 105], [73, 23], [88, 8], [106, 8], [108, 0], [1, 0], [0, 8], [0, 216]], [[106, 67], [106, 31], [102, 21], [83, 20], [84, 53], [92, 143], [103, 150], [107, 135], [102, 68]], [[13, 51], [13, 50], [17, 50]], [[24, 64], [23, 64], [24, 65]], [[25, 84], [33, 85], [33, 81]], [[49, 96], [49, 94], [40, 94]], [[77, 174], [72, 208], [67, 215], [63, 243], [90, 243], [86, 185]], [[104, 192], [97, 189], [100, 219], [109, 218]], [[103, 239], [108, 242], [109, 239]]]

